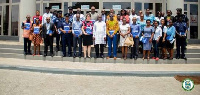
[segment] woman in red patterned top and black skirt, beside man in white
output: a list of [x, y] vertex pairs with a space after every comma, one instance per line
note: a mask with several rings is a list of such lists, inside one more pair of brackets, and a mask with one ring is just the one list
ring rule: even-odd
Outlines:
[[86, 58], [86, 53], [88, 53], [87, 57], [91, 58], [90, 51], [91, 45], [93, 44], [93, 22], [91, 21], [91, 14], [86, 15], [86, 20], [83, 21], [82, 31], [84, 58]]

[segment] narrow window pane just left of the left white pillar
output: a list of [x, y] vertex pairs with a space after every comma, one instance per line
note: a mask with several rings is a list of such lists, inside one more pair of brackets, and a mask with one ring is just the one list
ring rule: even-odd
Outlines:
[[18, 36], [19, 5], [12, 6], [11, 36]]

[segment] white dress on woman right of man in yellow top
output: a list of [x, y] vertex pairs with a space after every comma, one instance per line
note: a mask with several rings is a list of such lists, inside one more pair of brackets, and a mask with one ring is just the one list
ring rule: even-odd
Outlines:
[[[120, 31], [122, 34], [126, 34], [128, 32], [128, 28], [130, 27], [129, 24], [126, 24], [126, 25], [120, 25]], [[129, 35], [126, 35], [125, 38], [123, 38], [122, 36], [120, 36], [120, 44], [119, 46], [127, 46], [124, 44], [126, 38], [128, 37]]]

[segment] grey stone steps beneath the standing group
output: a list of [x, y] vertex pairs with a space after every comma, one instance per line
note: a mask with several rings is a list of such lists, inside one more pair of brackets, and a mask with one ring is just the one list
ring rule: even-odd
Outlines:
[[[94, 47], [91, 49], [91, 57], [92, 58], [87, 58], [84, 59], [82, 58], [73, 58], [73, 57], [62, 57], [62, 52], [54, 51], [54, 57], [43, 57], [43, 51], [44, 51], [44, 46], [41, 45], [41, 53], [42, 55], [24, 55], [23, 54], [23, 43], [19, 42], [10, 42], [10, 41], [1, 41], [0, 42], [0, 57], [2, 58], [17, 58], [17, 59], [26, 59], [26, 60], [48, 60], [48, 61], [71, 61], [71, 62], [91, 62], [91, 63], [129, 63], [129, 64], [198, 64], [200, 63], [200, 45], [197, 46], [198, 48], [195, 47], [195, 45], [189, 45], [186, 51], [186, 57], [188, 60], [183, 60], [183, 59], [173, 59], [173, 60], [163, 60], [160, 59], [159, 61], [155, 61], [150, 59], [147, 61], [147, 59], [142, 60], [142, 54], [139, 54], [139, 58], [137, 60], [134, 59], [129, 59], [130, 56], [130, 49], [128, 50], [128, 59], [123, 60], [121, 59], [121, 53], [117, 54], [117, 60], [113, 60], [113, 58], [110, 59], [102, 59], [102, 58], [97, 58], [95, 59], [95, 50]], [[33, 46], [31, 47], [33, 50]], [[54, 50], [55, 50], [55, 44], [54, 44]], [[78, 52], [78, 48], [77, 48]], [[108, 55], [108, 48], [104, 49], [104, 56]], [[174, 50], [174, 56], [176, 55], [176, 50]], [[153, 54], [151, 54], [153, 56]]]

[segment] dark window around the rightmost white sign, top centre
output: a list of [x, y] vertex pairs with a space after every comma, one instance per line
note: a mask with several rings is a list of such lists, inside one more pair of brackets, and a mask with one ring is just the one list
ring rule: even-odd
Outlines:
[[131, 9], [131, 2], [103, 2], [104, 9], [112, 9], [113, 5], [121, 5], [121, 9]]

